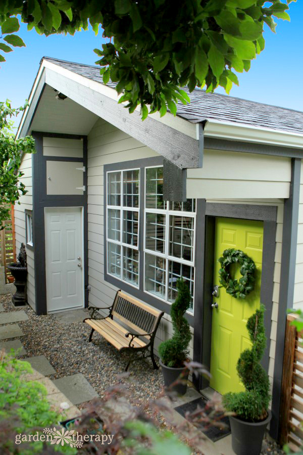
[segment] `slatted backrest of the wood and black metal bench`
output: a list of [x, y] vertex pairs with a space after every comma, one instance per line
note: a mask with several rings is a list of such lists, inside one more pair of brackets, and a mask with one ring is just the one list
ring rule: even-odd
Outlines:
[[112, 315], [134, 329], [138, 334], [153, 332], [161, 311], [133, 299], [121, 291], [117, 292]]

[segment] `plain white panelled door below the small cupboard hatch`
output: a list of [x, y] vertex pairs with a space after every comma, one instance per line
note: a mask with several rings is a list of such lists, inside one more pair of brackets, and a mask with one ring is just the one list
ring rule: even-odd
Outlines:
[[45, 208], [47, 311], [82, 307], [81, 208]]

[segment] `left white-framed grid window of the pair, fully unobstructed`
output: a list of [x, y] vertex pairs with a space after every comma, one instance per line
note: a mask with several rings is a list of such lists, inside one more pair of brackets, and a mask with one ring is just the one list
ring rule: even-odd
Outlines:
[[139, 287], [140, 169], [107, 173], [107, 272]]

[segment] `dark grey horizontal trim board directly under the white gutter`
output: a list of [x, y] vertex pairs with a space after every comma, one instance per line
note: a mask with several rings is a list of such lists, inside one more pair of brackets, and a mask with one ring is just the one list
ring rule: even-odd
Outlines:
[[[277, 131], [278, 132], [278, 131]], [[229, 141], [227, 139], [204, 138], [204, 148], [210, 150], [222, 150], [225, 152], [257, 153], [260, 155], [286, 156], [289, 158], [301, 158], [302, 149], [294, 149], [291, 146], [281, 147], [267, 144], [255, 144], [252, 142]]]

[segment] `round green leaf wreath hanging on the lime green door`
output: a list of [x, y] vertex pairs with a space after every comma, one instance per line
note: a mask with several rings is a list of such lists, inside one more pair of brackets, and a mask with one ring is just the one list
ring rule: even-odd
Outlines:
[[[255, 262], [243, 251], [229, 248], [223, 251], [223, 256], [218, 259], [221, 264], [219, 270], [219, 282], [226, 289], [226, 292], [236, 299], [245, 299], [255, 286]], [[230, 276], [230, 265], [238, 262], [241, 265], [240, 274], [242, 277], [233, 280]]]

